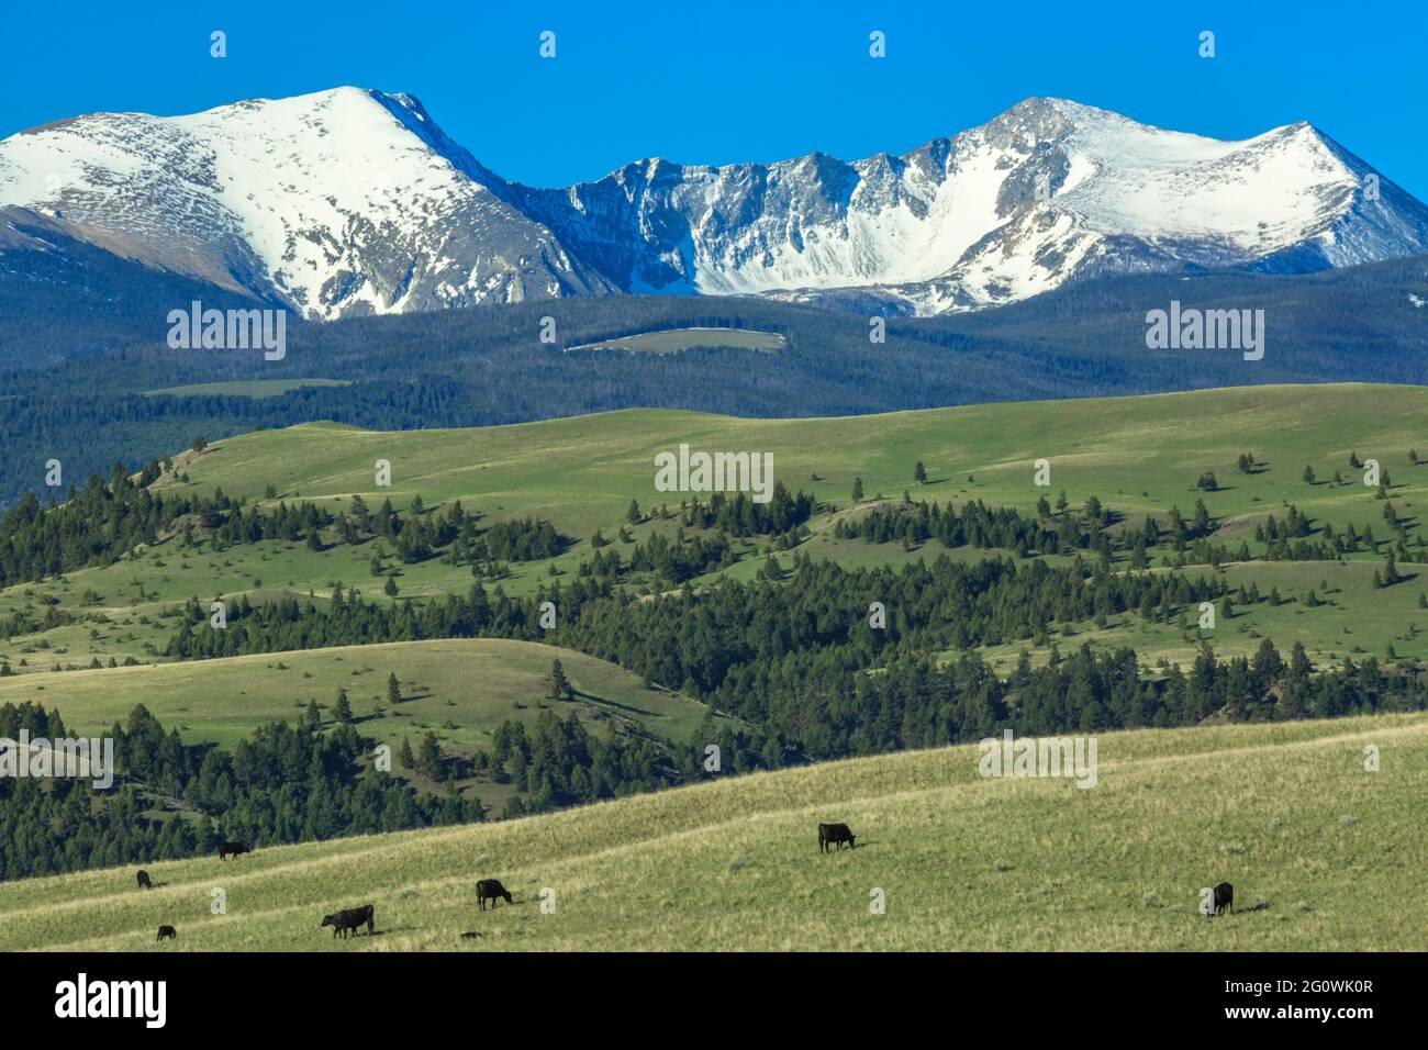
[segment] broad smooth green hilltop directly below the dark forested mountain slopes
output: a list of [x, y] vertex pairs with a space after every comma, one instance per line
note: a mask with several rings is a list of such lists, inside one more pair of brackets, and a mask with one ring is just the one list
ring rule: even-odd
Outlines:
[[[1210, 510], [1234, 523], [1294, 501], [1312, 516], [1342, 517], [1362, 506], [1378, 517], [1372, 490], [1349, 477], [1349, 453], [1377, 457], [1422, 496], [1428, 464], [1412, 467], [1415, 443], [1428, 459], [1428, 389], [1327, 384], [1237, 387], [1148, 397], [1031, 401], [814, 420], [743, 420], [685, 411], [628, 410], [478, 430], [374, 433], [334, 424], [246, 434], [203, 456], [180, 457], [191, 484], [261, 497], [267, 484], [291, 499], [391, 497], [401, 509], [461, 499], [487, 513], [541, 514], [585, 539], [620, 521], [630, 499], [668, 501], [654, 490], [654, 454], [675, 449], [758, 450], [774, 454], [774, 476], [790, 490], [848, 503], [855, 477], [867, 494], [915, 489], [927, 499], [982, 499], [1030, 510], [1044, 489], [1032, 463], [1051, 461], [1051, 496], [1072, 504], [1095, 493], [1128, 516], [1188, 513], [1200, 474], [1214, 470], [1222, 490]], [[1251, 451], [1258, 473], [1240, 474]], [[373, 463], [393, 464], [390, 490], [373, 484]], [[921, 460], [928, 484], [912, 481]], [[1318, 484], [1305, 484], [1314, 466]], [[1357, 484], [1328, 484], [1339, 470]], [[817, 481], [811, 476], [817, 473]], [[967, 476], [972, 476], [972, 481]], [[677, 501], [677, 500], [675, 500]]]

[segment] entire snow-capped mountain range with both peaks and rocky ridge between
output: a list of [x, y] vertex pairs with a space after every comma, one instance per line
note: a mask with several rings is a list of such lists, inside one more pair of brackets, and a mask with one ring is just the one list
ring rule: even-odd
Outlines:
[[0, 206], [313, 319], [658, 291], [932, 314], [1108, 271], [1428, 251], [1428, 207], [1309, 124], [1220, 141], [1061, 99], [904, 156], [508, 183], [411, 96], [343, 87], [0, 143]]

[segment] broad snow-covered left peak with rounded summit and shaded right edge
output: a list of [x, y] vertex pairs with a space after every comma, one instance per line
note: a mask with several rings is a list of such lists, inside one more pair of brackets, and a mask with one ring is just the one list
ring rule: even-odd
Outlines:
[[0, 201], [316, 320], [608, 290], [487, 177], [417, 100], [351, 87], [0, 143]]

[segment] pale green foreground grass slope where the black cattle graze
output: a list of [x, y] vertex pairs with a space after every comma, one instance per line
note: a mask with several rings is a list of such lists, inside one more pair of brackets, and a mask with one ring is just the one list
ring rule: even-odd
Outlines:
[[[982, 779], [977, 749], [955, 747], [149, 864], [150, 891], [133, 866], [6, 883], [0, 950], [1428, 949], [1428, 716], [1098, 744], [1088, 790]], [[847, 821], [858, 847], [820, 854], [827, 820]], [[481, 877], [516, 906], [478, 911]], [[1200, 890], [1221, 880], [1240, 913], [1207, 920]], [[216, 889], [226, 914], [210, 913]], [[870, 913], [877, 890], [884, 914]], [[378, 936], [334, 941], [320, 927], [363, 903]], [[160, 923], [178, 939], [156, 946]], [[468, 930], [481, 936], [461, 940]]]

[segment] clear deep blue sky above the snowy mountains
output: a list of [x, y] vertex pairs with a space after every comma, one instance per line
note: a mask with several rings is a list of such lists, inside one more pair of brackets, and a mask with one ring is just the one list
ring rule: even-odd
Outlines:
[[[337, 84], [410, 91], [507, 179], [638, 157], [901, 153], [1028, 96], [1247, 137], [1309, 120], [1428, 200], [1428, 3], [169, 3], [10, 0], [0, 137]], [[134, 13], [130, 13], [134, 11]], [[59, 16], [59, 17], [57, 17]], [[228, 57], [208, 56], [208, 33]], [[868, 57], [868, 33], [887, 57]], [[541, 60], [553, 30], [557, 57]], [[1197, 56], [1201, 30], [1217, 56]]]

